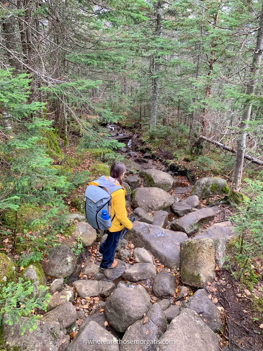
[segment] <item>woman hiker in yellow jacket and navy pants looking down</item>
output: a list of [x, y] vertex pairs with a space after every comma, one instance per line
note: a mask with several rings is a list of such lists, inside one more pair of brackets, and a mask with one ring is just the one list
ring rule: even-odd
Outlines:
[[[100, 270], [114, 268], [117, 261], [114, 259], [121, 231], [124, 227], [132, 228], [132, 223], [127, 217], [125, 190], [122, 179], [126, 172], [126, 166], [121, 162], [115, 162], [110, 167], [110, 176], [102, 176], [89, 185], [99, 185], [107, 189], [111, 195], [110, 220], [111, 226], [106, 230], [107, 239], [100, 245], [97, 256], [102, 256]], [[88, 187], [89, 188], [89, 187]], [[116, 190], [115, 190], [116, 188]]]

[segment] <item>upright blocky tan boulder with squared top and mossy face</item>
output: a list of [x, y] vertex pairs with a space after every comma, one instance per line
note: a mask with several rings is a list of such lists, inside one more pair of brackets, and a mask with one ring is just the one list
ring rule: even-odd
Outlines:
[[214, 279], [215, 244], [211, 239], [184, 241], [181, 245], [181, 280], [202, 287]]

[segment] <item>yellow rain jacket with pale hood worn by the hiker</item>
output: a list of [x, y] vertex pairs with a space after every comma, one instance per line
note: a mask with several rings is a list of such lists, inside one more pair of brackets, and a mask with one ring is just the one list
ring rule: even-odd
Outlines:
[[[108, 177], [102, 176], [99, 179], [92, 181], [89, 185], [100, 185], [109, 190], [109, 187], [119, 186], [118, 183], [113, 183], [108, 180]], [[122, 187], [123, 188], [123, 187]], [[110, 208], [110, 219], [112, 220], [112, 225], [108, 229], [110, 232], [118, 232], [122, 230], [124, 227], [127, 229], [131, 229], [133, 224], [127, 217], [126, 211], [126, 201], [125, 201], [125, 190], [118, 189], [114, 191], [112, 194], [111, 208]], [[115, 215], [115, 216], [114, 216]]]

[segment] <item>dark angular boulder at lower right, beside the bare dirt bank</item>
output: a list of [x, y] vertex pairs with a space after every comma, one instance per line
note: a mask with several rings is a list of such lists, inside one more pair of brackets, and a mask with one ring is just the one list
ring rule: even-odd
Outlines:
[[218, 313], [216, 305], [208, 298], [207, 292], [204, 289], [197, 290], [193, 296], [184, 300], [180, 306], [182, 308], [190, 308], [196, 313], [201, 314], [200, 318], [206, 319], [205, 322], [213, 331], [222, 329], [222, 321]]

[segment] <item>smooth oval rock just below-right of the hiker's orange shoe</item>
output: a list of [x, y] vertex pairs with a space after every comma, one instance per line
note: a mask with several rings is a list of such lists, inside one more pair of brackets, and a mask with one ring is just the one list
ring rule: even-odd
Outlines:
[[139, 280], [151, 279], [156, 274], [157, 270], [154, 264], [135, 263], [122, 273], [122, 278], [131, 282], [138, 282]]

